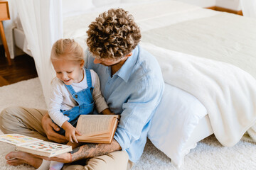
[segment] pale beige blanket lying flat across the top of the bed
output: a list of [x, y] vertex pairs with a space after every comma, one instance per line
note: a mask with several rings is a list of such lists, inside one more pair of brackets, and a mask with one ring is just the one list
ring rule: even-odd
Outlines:
[[256, 20], [231, 13], [196, 18], [142, 33], [142, 42], [233, 64], [255, 77]]

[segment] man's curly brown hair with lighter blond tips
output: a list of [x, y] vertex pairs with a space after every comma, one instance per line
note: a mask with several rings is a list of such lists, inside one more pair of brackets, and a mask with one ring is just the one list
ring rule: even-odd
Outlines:
[[142, 37], [134, 18], [122, 8], [101, 13], [87, 30], [87, 45], [100, 59], [118, 60], [128, 55]]

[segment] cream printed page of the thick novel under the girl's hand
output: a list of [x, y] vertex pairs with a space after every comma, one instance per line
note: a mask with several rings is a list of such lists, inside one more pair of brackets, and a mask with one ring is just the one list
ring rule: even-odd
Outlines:
[[105, 115], [81, 115], [77, 128], [85, 136], [109, 132], [112, 118]]

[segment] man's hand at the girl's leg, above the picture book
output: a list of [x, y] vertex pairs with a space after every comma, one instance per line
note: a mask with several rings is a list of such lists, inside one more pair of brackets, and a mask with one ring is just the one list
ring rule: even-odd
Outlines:
[[42, 118], [42, 127], [43, 127], [43, 130], [46, 132], [48, 140], [52, 140], [58, 143], [68, 142], [65, 139], [65, 136], [60, 135], [54, 131], [54, 130], [58, 131], [60, 130], [60, 128], [58, 127], [58, 125], [53, 123], [53, 121], [51, 120], [48, 114], [44, 115]]

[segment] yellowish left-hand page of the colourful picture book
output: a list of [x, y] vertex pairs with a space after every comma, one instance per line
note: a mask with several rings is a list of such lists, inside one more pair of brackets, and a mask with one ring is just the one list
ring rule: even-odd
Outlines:
[[6, 142], [12, 145], [26, 145], [28, 143], [40, 142], [43, 140], [39, 140], [34, 137], [28, 137], [26, 135], [4, 134], [4, 135], [0, 135], [0, 141]]

